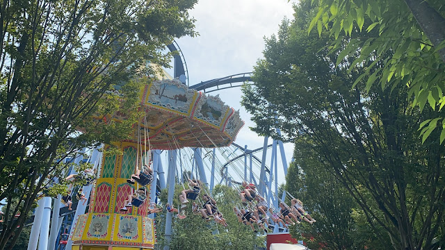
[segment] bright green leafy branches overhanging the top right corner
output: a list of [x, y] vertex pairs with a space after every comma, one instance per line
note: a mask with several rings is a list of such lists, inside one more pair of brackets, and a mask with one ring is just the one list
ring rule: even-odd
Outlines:
[[[368, 78], [366, 90], [374, 83], [380, 83], [382, 88], [407, 85], [410, 88], [408, 97], [414, 96], [412, 104], [419, 105], [420, 111], [426, 105], [433, 110], [442, 110], [445, 106], [444, 1], [315, 2], [319, 3], [319, 8], [309, 29], [316, 26], [318, 33], [327, 29], [336, 39], [332, 51], [341, 50], [337, 64], [353, 57], [355, 60], [350, 68], [368, 65], [361, 76]], [[357, 35], [362, 28], [372, 35]], [[345, 40], [347, 46], [344, 46]], [[358, 57], [355, 56], [357, 53]], [[422, 125], [423, 141], [437, 127], [442, 129], [440, 142], [445, 140], [445, 122], [441, 113]]]

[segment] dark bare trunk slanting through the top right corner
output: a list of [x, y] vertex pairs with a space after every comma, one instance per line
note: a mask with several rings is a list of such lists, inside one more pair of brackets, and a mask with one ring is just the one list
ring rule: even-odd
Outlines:
[[[405, 0], [405, 3], [432, 45], [438, 47], [445, 41], [445, 18], [437, 10], [424, 0]], [[445, 63], [445, 48], [438, 53]]]

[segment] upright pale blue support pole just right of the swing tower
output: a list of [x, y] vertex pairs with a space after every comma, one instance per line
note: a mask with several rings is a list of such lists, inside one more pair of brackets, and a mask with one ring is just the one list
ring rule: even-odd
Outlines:
[[[169, 157], [168, 157], [168, 175], [169, 181], [168, 181], [168, 199], [167, 202], [172, 206], [173, 204], [173, 195], [175, 195], [175, 169], [176, 169], [176, 158], [177, 158], [177, 151], [172, 150], [169, 151]], [[172, 238], [172, 213], [167, 212], [167, 215], [165, 216], [165, 246], [164, 250], [169, 250], [170, 247], [168, 244], [170, 244], [170, 240]]]

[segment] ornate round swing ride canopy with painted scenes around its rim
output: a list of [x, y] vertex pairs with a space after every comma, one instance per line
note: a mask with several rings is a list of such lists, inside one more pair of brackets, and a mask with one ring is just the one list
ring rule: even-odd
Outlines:
[[[188, 89], [179, 80], [154, 81], [140, 94], [145, 117], [133, 130], [128, 142], [150, 144], [152, 149], [182, 147], [225, 147], [243, 126], [238, 111], [218, 96]], [[126, 115], [106, 119], [124, 120]]]

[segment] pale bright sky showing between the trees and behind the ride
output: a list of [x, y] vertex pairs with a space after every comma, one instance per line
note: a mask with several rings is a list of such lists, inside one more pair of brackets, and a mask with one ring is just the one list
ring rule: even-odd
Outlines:
[[[287, 0], [200, 0], [190, 12], [196, 19], [195, 31], [200, 35], [176, 40], [186, 60], [190, 85], [252, 72], [257, 60], [263, 58], [264, 37], [276, 34], [284, 17], [292, 19], [292, 4], [293, 1]], [[240, 111], [245, 126], [235, 143], [248, 145], [248, 149], [262, 147], [264, 138], [249, 129], [254, 123], [240, 104], [241, 89], [231, 88], [210, 94], [219, 94], [227, 105]], [[269, 139], [268, 144], [271, 143]], [[289, 164], [293, 145], [285, 144], [284, 148]], [[278, 159], [280, 162], [281, 158]], [[266, 160], [266, 164], [270, 165], [270, 160]], [[282, 165], [278, 165], [281, 166], [278, 179], [284, 182]]]

